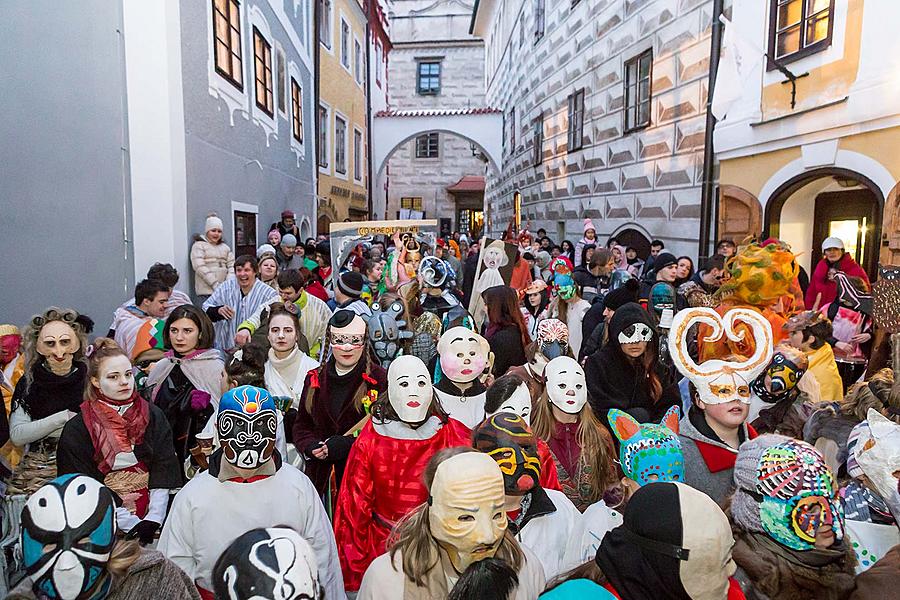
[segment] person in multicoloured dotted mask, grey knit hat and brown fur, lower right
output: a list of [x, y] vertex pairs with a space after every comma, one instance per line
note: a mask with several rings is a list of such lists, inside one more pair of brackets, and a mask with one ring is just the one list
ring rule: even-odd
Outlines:
[[822, 455], [799, 440], [761, 435], [741, 446], [734, 482], [733, 555], [747, 597], [846, 598], [855, 559], [844, 539], [837, 482]]

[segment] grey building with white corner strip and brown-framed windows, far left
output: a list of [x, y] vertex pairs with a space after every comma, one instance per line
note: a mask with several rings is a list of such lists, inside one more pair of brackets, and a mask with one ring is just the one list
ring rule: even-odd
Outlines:
[[[192, 236], [209, 212], [236, 251], [255, 249], [286, 208], [315, 234], [310, 8], [9, 7], [0, 48], [18, 58], [4, 63], [0, 117], [5, 321], [54, 304], [105, 331], [157, 261], [191, 291]], [[47, 35], [53, 44], [20, 52]]]

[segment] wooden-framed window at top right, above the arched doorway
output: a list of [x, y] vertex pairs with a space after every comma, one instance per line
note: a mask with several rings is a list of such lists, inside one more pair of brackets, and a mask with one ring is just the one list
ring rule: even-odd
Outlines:
[[833, 13], [834, 0], [772, 0], [769, 56], [790, 62], [827, 48]]

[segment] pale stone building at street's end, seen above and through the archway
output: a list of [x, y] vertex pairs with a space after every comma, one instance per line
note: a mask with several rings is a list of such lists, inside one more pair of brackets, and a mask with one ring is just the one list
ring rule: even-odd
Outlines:
[[[389, 115], [435, 114], [483, 107], [484, 44], [468, 32], [473, 4], [394, 0], [388, 65]], [[387, 163], [384, 218], [437, 219], [442, 231], [480, 235], [485, 161], [452, 127], [423, 132], [397, 146]]]

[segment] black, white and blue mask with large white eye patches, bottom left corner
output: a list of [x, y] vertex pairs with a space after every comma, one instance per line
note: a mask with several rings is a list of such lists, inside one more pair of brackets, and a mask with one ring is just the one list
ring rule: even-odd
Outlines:
[[28, 499], [22, 510], [22, 558], [36, 596], [106, 598], [115, 510], [109, 488], [76, 473], [57, 477]]

